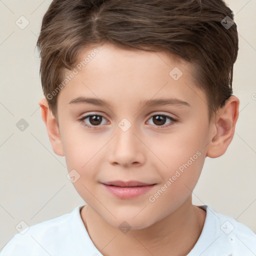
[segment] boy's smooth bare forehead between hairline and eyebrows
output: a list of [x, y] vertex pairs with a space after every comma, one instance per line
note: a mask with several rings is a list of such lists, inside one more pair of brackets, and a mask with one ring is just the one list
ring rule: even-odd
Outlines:
[[[60, 102], [87, 96], [124, 105], [125, 101], [175, 97], [200, 105], [204, 93], [194, 84], [193, 66], [169, 52], [120, 48], [105, 43], [79, 51], [73, 77], [61, 89]], [[201, 100], [199, 100], [201, 98]], [[201, 102], [202, 101], [202, 102]]]

